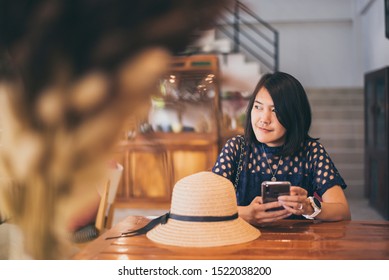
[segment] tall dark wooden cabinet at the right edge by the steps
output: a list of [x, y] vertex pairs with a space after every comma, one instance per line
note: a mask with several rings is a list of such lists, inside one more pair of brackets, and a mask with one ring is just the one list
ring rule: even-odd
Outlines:
[[365, 194], [389, 219], [389, 67], [365, 75]]

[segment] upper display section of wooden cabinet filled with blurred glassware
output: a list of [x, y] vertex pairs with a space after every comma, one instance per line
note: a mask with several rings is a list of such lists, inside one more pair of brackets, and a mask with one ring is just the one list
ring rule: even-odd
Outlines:
[[215, 75], [176, 72], [162, 78], [152, 97], [149, 123], [156, 132], [211, 133], [216, 130]]

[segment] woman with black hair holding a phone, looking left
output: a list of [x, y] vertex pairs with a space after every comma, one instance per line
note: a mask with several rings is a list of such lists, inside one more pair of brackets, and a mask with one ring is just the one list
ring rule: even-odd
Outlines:
[[[234, 184], [243, 219], [253, 225], [288, 217], [351, 219], [347, 186], [324, 147], [309, 136], [310, 125], [300, 82], [282, 72], [264, 75], [249, 100], [244, 137], [229, 139], [212, 169]], [[290, 195], [263, 203], [261, 183], [274, 180], [289, 181]]]

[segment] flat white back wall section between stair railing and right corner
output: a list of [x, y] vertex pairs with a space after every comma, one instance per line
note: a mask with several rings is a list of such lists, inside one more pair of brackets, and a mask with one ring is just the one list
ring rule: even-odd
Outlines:
[[351, 22], [274, 24], [280, 32], [280, 70], [305, 87], [353, 87], [355, 80]]

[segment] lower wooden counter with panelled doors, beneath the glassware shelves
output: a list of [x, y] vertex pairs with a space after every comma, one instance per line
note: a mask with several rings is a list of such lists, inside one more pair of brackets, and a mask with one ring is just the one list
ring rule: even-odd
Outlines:
[[217, 137], [210, 133], [149, 133], [121, 141], [114, 157], [124, 172], [115, 207], [168, 205], [174, 184], [210, 170], [218, 153]]

